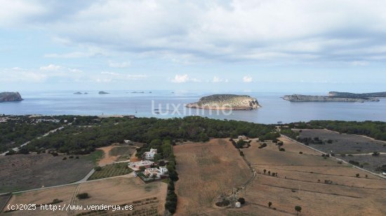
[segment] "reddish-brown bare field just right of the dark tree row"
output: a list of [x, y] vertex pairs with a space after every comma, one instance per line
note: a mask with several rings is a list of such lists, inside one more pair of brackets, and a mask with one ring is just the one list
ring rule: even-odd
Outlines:
[[222, 211], [213, 207], [214, 200], [230, 194], [232, 187], [244, 184], [252, 176], [246, 162], [227, 139], [176, 145], [174, 154], [180, 178], [175, 184], [176, 215], [221, 215]]

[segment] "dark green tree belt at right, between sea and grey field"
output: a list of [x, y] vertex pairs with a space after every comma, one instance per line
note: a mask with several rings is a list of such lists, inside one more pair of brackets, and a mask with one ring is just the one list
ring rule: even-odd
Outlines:
[[329, 129], [344, 134], [364, 135], [386, 141], [386, 122], [310, 121], [291, 123], [288, 126], [297, 129]]

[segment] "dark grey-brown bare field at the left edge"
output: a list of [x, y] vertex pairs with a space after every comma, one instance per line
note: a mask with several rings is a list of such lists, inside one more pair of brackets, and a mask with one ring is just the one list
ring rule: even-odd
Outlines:
[[[63, 160], [63, 157], [67, 157]], [[0, 157], [0, 193], [62, 185], [81, 180], [93, 168], [93, 162], [68, 155], [15, 154]]]

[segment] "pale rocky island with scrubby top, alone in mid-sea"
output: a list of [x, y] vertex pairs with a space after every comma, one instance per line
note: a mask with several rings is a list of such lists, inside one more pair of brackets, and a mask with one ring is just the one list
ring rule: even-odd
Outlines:
[[248, 95], [213, 94], [201, 97], [196, 103], [188, 103], [186, 107], [208, 110], [253, 110], [260, 105], [257, 99]]

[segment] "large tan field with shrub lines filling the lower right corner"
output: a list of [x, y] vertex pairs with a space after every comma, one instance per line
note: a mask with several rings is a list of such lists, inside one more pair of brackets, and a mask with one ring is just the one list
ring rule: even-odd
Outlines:
[[[295, 206], [301, 206], [300, 215], [386, 214], [386, 180], [338, 164], [335, 159], [324, 159], [319, 152], [288, 139], [282, 146], [285, 152], [274, 143], [267, 143], [262, 149], [258, 143], [251, 145], [243, 152], [259, 174], [239, 194], [245, 197], [246, 204], [234, 209], [235, 213], [294, 215]], [[277, 177], [272, 173], [277, 173]], [[268, 202], [272, 202], [270, 208]]]

